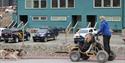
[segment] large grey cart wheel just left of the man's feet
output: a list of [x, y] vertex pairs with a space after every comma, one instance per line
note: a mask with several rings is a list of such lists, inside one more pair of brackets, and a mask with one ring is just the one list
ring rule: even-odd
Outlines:
[[108, 53], [104, 50], [100, 50], [98, 53], [97, 53], [97, 61], [99, 63], [104, 63], [108, 60]]

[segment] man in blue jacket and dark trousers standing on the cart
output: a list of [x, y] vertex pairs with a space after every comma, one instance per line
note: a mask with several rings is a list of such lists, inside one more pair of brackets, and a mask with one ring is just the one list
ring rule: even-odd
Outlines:
[[110, 27], [108, 22], [105, 20], [104, 16], [101, 16], [100, 19], [101, 19], [101, 24], [97, 34], [103, 35], [104, 49], [108, 54], [110, 54], [110, 38], [111, 38]]

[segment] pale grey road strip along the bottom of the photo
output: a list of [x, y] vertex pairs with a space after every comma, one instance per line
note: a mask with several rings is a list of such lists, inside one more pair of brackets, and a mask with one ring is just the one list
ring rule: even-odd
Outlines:
[[[69, 59], [0, 59], [0, 63], [98, 63], [96, 60], [72, 62]], [[125, 60], [114, 60], [106, 63], [125, 63]]]

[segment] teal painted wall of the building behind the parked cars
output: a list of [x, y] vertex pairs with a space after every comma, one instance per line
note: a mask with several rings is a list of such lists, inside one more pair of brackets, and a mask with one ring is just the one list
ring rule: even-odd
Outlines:
[[[52, 9], [50, 6], [50, 1], [48, 1], [48, 8], [46, 9], [25, 9], [25, 0], [18, 0], [18, 22], [19, 22], [19, 15], [28, 15], [28, 26], [29, 27], [41, 27], [43, 25], [48, 25], [52, 27], [63, 27], [66, 28], [68, 24], [72, 21], [72, 15], [82, 15], [82, 21], [79, 24], [80, 27], [87, 26], [87, 15], [96, 15], [97, 22], [99, 23], [99, 16], [123, 16], [124, 8], [93, 8], [93, 0], [75, 0], [75, 8], [70, 9]], [[123, 0], [122, 0], [123, 2]], [[123, 2], [124, 3], [124, 2]], [[32, 16], [36, 15], [45, 15], [48, 16], [48, 21], [32, 21]], [[51, 16], [67, 16], [67, 21], [51, 21]], [[125, 21], [125, 20], [124, 20]], [[123, 20], [112, 22], [110, 21], [109, 24], [112, 29], [122, 29], [123, 28]], [[124, 22], [125, 24], [125, 22]], [[97, 26], [98, 27], [98, 26]], [[125, 27], [125, 25], [124, 25]]]

